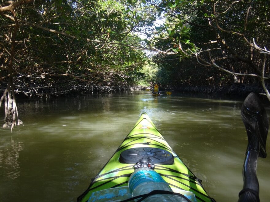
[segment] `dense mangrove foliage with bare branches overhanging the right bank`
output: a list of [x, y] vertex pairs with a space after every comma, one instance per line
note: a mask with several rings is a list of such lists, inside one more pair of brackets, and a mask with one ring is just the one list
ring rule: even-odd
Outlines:
[[221, 87], [268, 79], [269, 51], [255, 47], [269, 50], [266, 1], [166, 1], [160, 9], [167, 17], [156, 46], [177, 53], [154, 58], [162, 85]]

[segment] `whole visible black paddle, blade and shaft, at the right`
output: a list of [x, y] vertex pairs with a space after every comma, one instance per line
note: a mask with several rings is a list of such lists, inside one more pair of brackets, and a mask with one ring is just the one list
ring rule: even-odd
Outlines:
[[266, 111], [255, 93], [250, 93], [241, 108], [241, 117], [248, 136], [248, 147], [243, 166], [243, 189], [238, 202], [259, 202], [259, 181], [257, 178], [257, 159], [266, 157], [266, 138], [268, 118]]

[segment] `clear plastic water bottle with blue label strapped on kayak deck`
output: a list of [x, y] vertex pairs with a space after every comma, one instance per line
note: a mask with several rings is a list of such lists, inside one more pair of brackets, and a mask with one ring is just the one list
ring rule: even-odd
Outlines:
[[[167, 182], [161, 178], [160, 174], [149, 168], [139, 168], [135, 170], [129, 178], [129, 191], [132, 197], [140, 196], [142, 194], [150, 193], [153, 190], [164, 190], [172, 192], [172, 189]], [[139, 199], [138, 199], [139, 200]], [[186, 202], [183, 197], [178, 195], [168, 194], [155, 194], [148, 196], [145, 201], [156, 202], [156, 201], [172, 201]]]

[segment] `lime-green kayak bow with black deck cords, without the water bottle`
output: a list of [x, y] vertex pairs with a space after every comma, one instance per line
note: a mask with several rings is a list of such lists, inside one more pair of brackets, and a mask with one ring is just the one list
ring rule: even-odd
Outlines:
[[128, 188], [129, 178], [138, 162], [146, 163], [158, 173], [173, 194], [185, 195], [189, 199], [187, 201], [215, 201], [146, 113], [141, 114], [135, 127], [77, 201], [137, 201], [140, 198], [133, 199]]

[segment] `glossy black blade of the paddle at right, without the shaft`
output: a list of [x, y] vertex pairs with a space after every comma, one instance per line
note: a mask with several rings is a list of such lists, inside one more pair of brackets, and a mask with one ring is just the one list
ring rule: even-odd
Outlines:
[[245, 124], [250, 143], [256, 136], [260, 143], [259, 156], [266, 157], [266, 138], [268, 133], [268, 117], [264, 106], [255, 93], [250, 93], [241, 108], [241, 117]]

